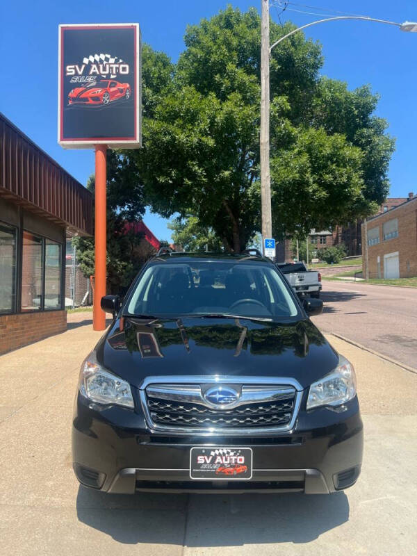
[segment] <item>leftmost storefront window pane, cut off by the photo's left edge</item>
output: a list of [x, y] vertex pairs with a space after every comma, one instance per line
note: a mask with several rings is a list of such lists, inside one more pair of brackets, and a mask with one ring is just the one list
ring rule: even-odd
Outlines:
[[16, 229], [0, 223], [0, 313], [13, 313], [16, 304]]

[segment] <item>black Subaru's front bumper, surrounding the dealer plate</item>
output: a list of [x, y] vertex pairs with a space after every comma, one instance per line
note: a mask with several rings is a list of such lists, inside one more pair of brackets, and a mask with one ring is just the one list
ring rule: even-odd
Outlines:
[[[140, 410], [104, 409], [78, 393], [72, 429], [74, 471], [86, 486], [110, 493], [331, 493], [351, 486], [359, 476], [363, 450], [357, 398], [341, 411], [320, 408], [309, 412], [304, 398], [289, 432], [168, 436], [149, 430]], [[190, 448], [198, 445], [252, 448], [252, 479], [190, 480]]]

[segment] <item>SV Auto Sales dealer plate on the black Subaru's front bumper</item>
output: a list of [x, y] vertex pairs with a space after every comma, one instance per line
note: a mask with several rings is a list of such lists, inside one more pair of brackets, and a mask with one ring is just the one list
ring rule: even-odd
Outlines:
[[198, 446], [190, 450], [190, 477], [197, 480], [252, 479], [252, 448]]

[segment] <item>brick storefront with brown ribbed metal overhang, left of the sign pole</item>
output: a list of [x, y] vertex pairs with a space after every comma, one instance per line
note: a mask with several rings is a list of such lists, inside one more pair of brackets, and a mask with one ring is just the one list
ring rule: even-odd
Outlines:
[[67, 327], [65, 236], [92, 196], [0, 113], [0, 354]]

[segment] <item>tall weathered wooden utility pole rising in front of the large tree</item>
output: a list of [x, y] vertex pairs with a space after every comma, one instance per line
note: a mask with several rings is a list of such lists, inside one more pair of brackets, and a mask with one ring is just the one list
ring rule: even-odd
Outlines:
[[270, 181], [270, 31], [269, 0], [261, 0], [261, 206], [262, 245], [272, 238], [271, 181]]

